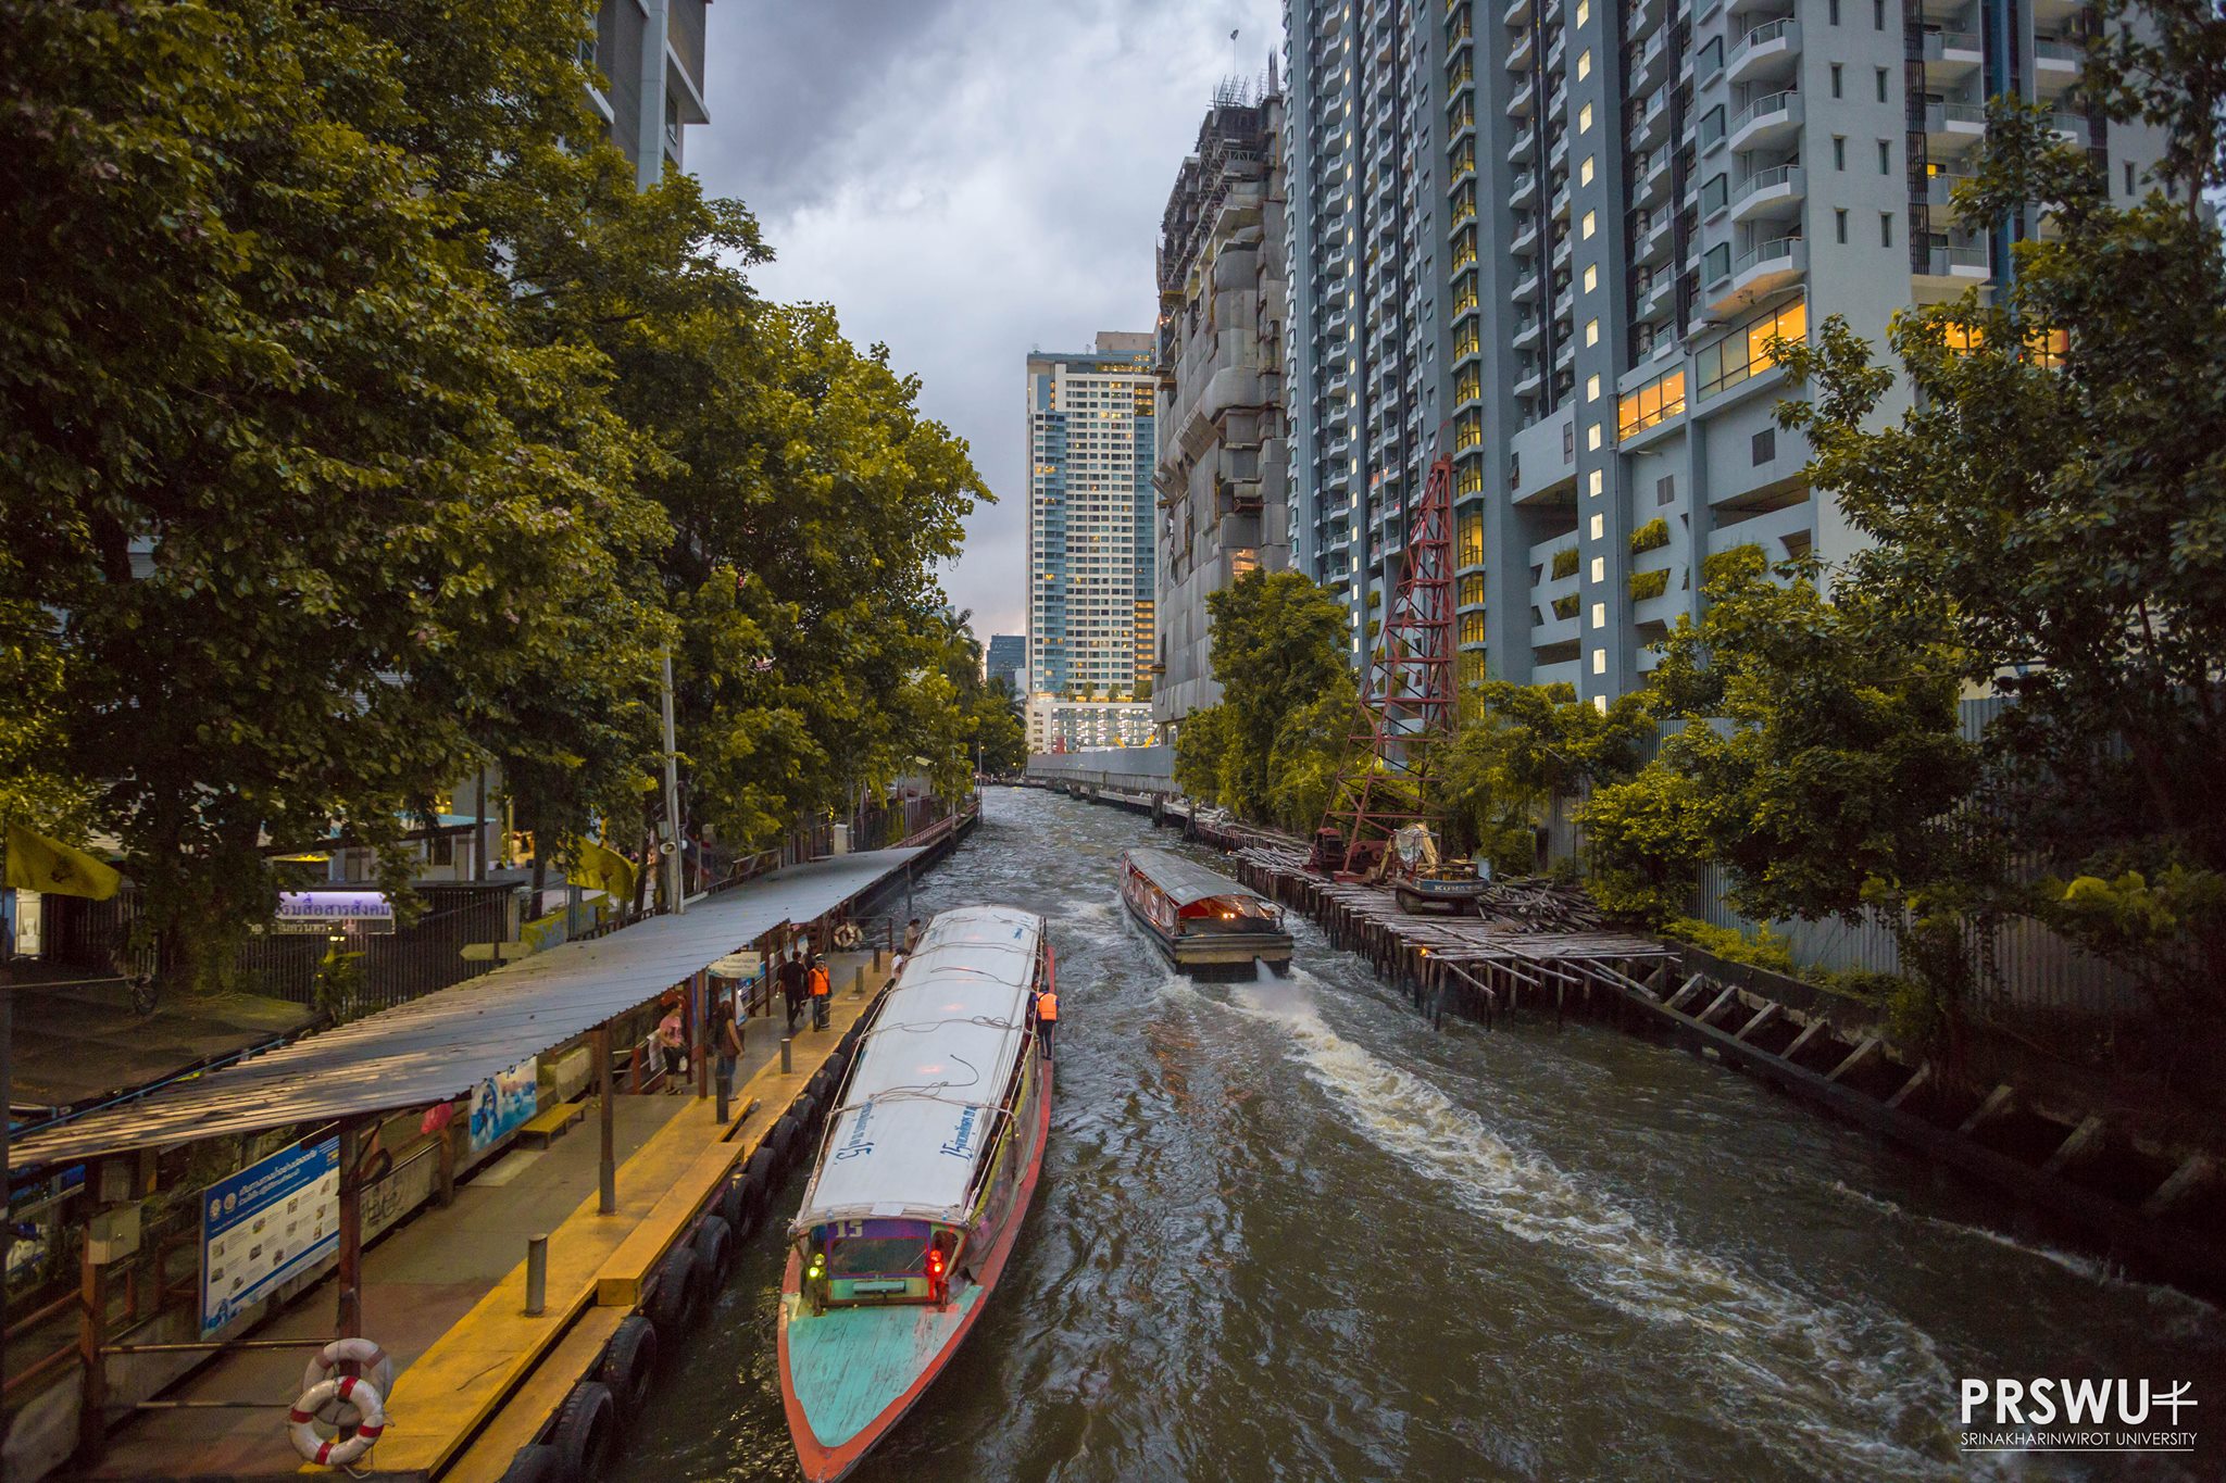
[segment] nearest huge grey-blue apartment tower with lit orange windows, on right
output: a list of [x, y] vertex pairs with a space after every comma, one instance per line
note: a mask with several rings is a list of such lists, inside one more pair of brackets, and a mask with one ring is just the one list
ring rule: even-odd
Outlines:
[[1999, 280], [2012, 236], [2046, 231], [1950, 220], [1986, 98], [2052, 102], [2119, 200], [2161, 142], [2068, 100], [2095, 24], [2077, 0], [1431, 13], [1465, 669], [1600, 703], [1698, 614], [1710, 554], [1850, 551], [1763, 347], [1832, 313], [1883, 345], [1892, 311]]

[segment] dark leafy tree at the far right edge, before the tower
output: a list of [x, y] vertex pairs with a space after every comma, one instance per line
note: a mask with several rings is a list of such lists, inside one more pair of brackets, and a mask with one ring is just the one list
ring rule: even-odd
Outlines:
[[[2124, 7], [2112, 4], [2112, 11]], [[2055, 231], [2015, 247], [1992, 300], [1903, 313], [1894, 385], [1843, 322], [1787, 347], [1814, 480], [1877, 547], [1879, 607], [1946, 607], [1959, 674], [2012, 700], [1986, 731], [2008, 847], [2077, 889], [2023, 907], [2215, 1014], [2226, 985], [2226, 271], [2199, 209], [2222, 171], [2226, 20], [2141, 7], [2088, 93], [2170, 129], [2166, 189], [2112, 207], [2043, 113], [1997, 100], [1957, 209]]]

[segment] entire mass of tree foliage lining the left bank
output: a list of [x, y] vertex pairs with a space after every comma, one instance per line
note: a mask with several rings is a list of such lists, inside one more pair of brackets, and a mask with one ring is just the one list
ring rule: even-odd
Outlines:
[[884, 349], [637, 191], [588, 11], [0, 0], [0, 807], [114, 834], [211, 983], [267, 854], [494, 763], [548, 852], [761, 840], [968, 720], [935, 565], [988, 498]]

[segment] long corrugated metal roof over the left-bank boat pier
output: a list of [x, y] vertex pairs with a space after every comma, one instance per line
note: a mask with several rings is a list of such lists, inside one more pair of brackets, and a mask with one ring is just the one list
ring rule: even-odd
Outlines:
[[407, 1005], [303, 1036], [125, 1107], [31, 1134], [9, 1163], [73, 1163], [136, 1147], [396, 1112], [447, 1101], [554, 1049], [781, 925], [870, 889], [919, 849], [792, 865], [603, 938], [563, 943]]

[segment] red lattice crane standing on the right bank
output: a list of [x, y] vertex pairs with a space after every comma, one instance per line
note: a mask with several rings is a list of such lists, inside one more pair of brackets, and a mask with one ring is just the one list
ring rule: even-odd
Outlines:
[[1451, 729], [1454, 460], [1440, 454], [1422, 482], [1422, 502], [1409, 514], [1407, 565], [1369, 658], [1345, 767], [1316, 829], [1320, 867], [1371, 874], [1398, 829], [1434, 823], [1429, 767], [1436, 743]]

